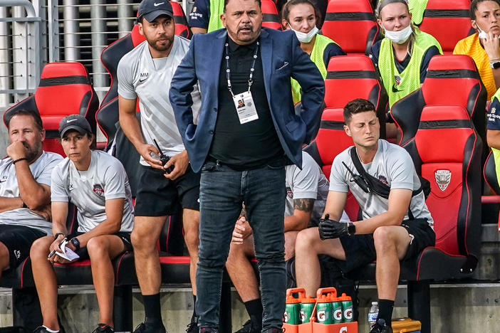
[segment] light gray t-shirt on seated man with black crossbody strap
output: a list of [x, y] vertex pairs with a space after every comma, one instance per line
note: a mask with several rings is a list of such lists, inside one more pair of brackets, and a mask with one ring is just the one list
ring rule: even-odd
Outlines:
[[[363, 219], [385, 213], [389, 206], [389, 201], [377, 196], [377, 194], [366, 193], [352, 180], [349, 171], [343, 166], [344, 162], [354, 174], [358, 174], [350, 158], [350, 147], [337, 155], [333, 160], [332, 171], [330, 173], [330, 191], [347, 192], [351, 191], [360, 208], [363, 211]], [[363, 164], [363, 162], [362, 162]], [[398, 146], [383, 139], [378, 140], [378, 149], [373, 157], [373, 161], [363, 164], [365, 171], [377, 179], [385, 182], [390, 189], [409, 189], [415, 191], [420, 189], [420, 180], [415, 171], [412, 158], [408, 152]], [[429, 226], [434, 225], [429, 209], [425, 204], [423, 191], [412, 196], [410, 209], [415, 218], [427, 218]], [[408, 214], [405, 215], [405, 220]]]

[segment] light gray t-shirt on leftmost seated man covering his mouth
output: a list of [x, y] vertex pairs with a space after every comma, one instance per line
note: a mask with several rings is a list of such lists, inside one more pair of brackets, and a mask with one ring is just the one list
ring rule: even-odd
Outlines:
[[[41, 156], [31, 163], [29, 169], [38, 184], [51, 186], [52, 169], [63, 159], [61, 155], [53, 152], [42, 152]], [[12, 159], [7, 157], [0, 160], [0, 196], [7, 198], [19, 197], [19, 184], [17, 183], [16, 166]], [[0, 224], [14, 226], [28, 226], [48, 233], [52, 232], [52, 223], [43, 216], [31, 211], [29, 208], [17, 208], [0, 213]]]

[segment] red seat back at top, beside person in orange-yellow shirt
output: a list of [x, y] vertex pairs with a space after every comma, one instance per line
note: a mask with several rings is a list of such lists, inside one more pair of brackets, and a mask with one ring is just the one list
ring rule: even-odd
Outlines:
[[439, 41], [444, 54], [450, 54], [458, 41], [469, 36], [470, 6], [470, 0], [429, 0], [420, 29]]

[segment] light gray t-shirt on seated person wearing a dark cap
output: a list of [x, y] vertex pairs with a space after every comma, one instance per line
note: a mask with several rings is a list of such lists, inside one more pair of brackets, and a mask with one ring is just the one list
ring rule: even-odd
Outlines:
[[133, 206], [123, 165], [105, 152], [93, 150], [87, 171], [78, 171], [66, 157], [52, 171], [52, 201], [71, 201], [78, 209], [78, 231], [86, 233], [105, 221], [105, 201], [124, 198], [120, 231], [132, 231]]

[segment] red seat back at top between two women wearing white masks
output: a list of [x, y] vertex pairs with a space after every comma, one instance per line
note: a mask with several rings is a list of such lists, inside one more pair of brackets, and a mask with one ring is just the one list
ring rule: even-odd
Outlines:
[[378, 25], [370, 1], [328, 2], [322, 31], [323, 35], [332, 38], [346, 53], [368, 56], [378, 36]]

